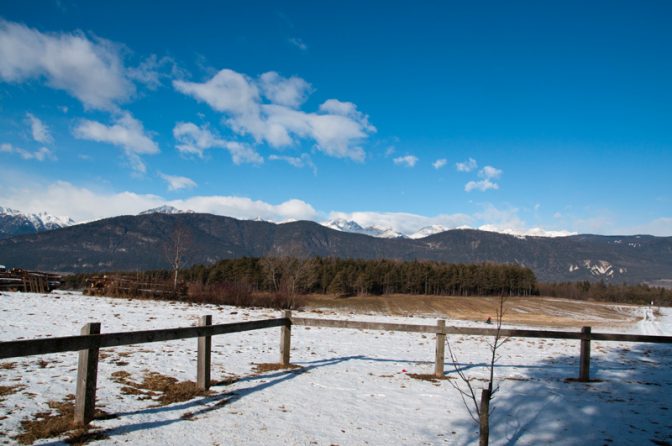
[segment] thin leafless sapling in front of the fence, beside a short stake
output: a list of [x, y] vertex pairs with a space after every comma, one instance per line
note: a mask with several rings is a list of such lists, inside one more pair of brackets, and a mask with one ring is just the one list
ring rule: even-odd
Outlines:
[[[490, 360], [486, 366], [488, 368], [488, 383], [487, 386], [482, 389], [480, 398], [476, 393], [476, 389], [474, 389], [472, 378], [467, 376], [464, 369], [459, 366], [457, 355], [451, 347], [450, 341], [447, 342], [450, 361], [453, 364], [455, 373], [457, 373], [457, 376], [460, 378], [458, 382], [449, 382], [460, 393], [462, 402], [467, 408], [469, 415], [479, 426], [480, 446], [487, 446], [488, 442], [490, 441], [490, 414], [494, 410], [494, 408], [490, 406], [490, 402], [494, 399], [495, 394], [499, 391], [499, 384], [495, 383], [495, 364], [500, 358], [497, 354], [497, 351], [508, 340], [508, 338], [501, 336], [505, 303], [506, 298], [504, 295], [500, 295], [497, 309], [495, 310], [496, 318], [494, 340], [492, 342], [488, 342], [488, 347], [490, 348]], [[490, 320], [490, 318], [488, 318], [488, 320]]]

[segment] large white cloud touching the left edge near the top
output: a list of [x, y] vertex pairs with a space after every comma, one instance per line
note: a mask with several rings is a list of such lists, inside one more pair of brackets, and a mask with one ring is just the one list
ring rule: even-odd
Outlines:
[[82, 33], [42, 33], [0, 19], [0, 79], [36, 78], [94, 109], [116, 109], [135, 92], [110, 42], [92, 41]]

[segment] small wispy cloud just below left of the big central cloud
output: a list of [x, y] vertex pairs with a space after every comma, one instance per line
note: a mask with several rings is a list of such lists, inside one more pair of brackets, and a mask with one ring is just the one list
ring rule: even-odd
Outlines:
[[261, 164], [264, 159], [252, 147], [236, 141], [226, 141], [207, 126], [199, 127], [191, 122], [178, 122], [173, 128], [173, 136], [177, 140], [177, 150], [180, 153], [196, 155], [203, 158], [208, 149], [226, 149], [231, 154], [234, 164], [252, 163]]

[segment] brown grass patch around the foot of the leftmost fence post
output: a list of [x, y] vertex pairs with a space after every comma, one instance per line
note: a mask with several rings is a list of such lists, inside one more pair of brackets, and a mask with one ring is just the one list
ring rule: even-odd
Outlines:
[[[68, 395], [65, 401], [49, 401], [51, 411], [38, 412], [32, 418], [21, 421], [23, 433], [14, 437], [20, 444], [33, 444], [42, 438], [60, 437], [69, 434], [65, 439], [68, 444], [86, 444], [89, 441], [107, 438], [102, 432], [79, 427], [74, 424], [74, 395]], [[111, 416], [96, 409], [95, 419], [106, 419]]]

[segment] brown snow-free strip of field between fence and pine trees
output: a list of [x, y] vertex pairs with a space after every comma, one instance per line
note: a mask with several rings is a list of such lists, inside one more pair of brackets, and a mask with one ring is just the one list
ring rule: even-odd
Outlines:
[[[315, 294], [306, 296], [306, 310], [325, 309], [391, 316], [435, 316], [437, 318], [482, 321], [494, 318], [499, 297], [459, 296], [354, 296], [341, 298]], [[551, 297], [511, 297], [506, 300], [504, 323], [552, 327], [630, 325], [641, 316], [636, 306], [612, 305]]]

